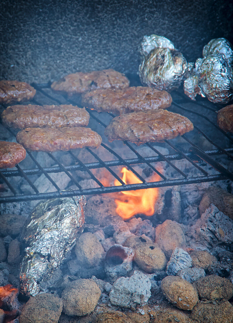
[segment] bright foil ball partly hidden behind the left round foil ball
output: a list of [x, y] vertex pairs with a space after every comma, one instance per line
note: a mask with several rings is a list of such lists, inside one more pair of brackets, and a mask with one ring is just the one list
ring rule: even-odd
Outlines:
[[175, 49], [171, 40], [157, 35], [144, 36], [139, 46], [139, 52], [144, 57], [147, 56], [154, 48]]

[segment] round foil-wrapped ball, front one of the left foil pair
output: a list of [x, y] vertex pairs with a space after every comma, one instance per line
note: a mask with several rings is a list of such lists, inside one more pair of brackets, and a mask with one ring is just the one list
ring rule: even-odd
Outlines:
[[176, 49], [155, 48], [139, 65], [143, 84], [159, 90], [178, 89], [185, 78], [188, 63]]

